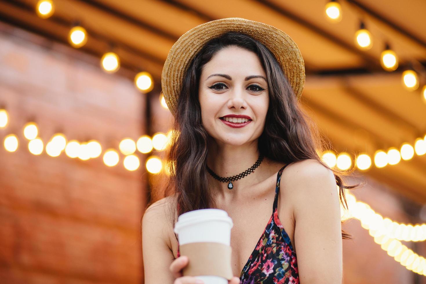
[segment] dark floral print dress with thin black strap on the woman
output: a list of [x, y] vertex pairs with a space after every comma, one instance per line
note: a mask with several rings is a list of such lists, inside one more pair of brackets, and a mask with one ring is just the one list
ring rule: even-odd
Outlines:
[[[288, 165], [288, 164], [287, 164]], [[296, 252], [278, 218], [278, 194], [283, 166], [276, 178], [273, 212], [241, 274], [241, 284], [299, 284]], [[177, 256], [179, 257], [179, 244]]]

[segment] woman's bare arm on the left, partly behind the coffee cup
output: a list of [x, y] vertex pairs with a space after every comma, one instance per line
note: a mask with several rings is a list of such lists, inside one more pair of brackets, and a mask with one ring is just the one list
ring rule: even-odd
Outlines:
[[175, 280], [169, 268], [174, 255], [167, 246], [170, 226], [164, 212], [165, 199], [148, 207], [142, 218], [145, 284], [173, 283]]

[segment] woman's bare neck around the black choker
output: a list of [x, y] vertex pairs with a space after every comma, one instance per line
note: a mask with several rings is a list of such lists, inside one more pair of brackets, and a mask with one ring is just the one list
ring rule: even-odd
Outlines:
[[[245, 145], [234, 146], [230, 144], [218, 144], [215, 141], [209, 143], [207, 155], [207, 166], [221, 178], [238, 175], [253, 166], [259, 159], [259, 150], [257, 140]], [[262, 164], [254, 169], [253, 172], [232, 181], [233, 189], [228, 189], [228, 182], [218, 181], [208, 174], [210, 180], [210, 189], [214, 190], [221, 198], [235, 198], [240, 195], [246, 195], [249, 186], [262, 181]]]

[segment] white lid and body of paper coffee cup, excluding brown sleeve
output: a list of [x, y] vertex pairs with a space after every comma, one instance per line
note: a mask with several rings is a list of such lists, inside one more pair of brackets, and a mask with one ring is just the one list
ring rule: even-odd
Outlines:
[[[178, 217], [174, 232], [179, 245], [195, 242], [216, 242], [230, 246], [232, 219], [221, 209], [199, 209]], [[196, 276], [205, 284], [228, 284], [226, 278], [215, 275]]]

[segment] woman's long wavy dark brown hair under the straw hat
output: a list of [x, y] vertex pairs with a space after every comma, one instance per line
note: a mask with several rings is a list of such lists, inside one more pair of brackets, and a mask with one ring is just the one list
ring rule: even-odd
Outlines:
[[[196, 209], [215, 208], [207, 177], [209, 134], [201, 123], [199, 80], [204, 64], [227, 46], [238, 46], [254, 52], [267, 75], [270, 100], [265, 129], [258, 140], [259, 152], [282, 164], [314, 159], [331, 169], [319, 156], [325, 150], [325, 140], [321, 138], [317, 126], [300, 108], [274, 55], [262, 43], [246, 34], [227, 32], [204, 45], [190, 63], [182, 82], [174, 131], [166, 153], [166, 166], [170, 175], [164, 193], [172, 197], [168, 208], [171, 210], [169, 216], [174, 216], [170, 222], [173, 227], [178, 215]], [[346, 186], [342, 176], [351, 174], [354, 169], [349, 172], [338, 169], [331, 171], [339, 186], [340, 202], [347, 209], [345, 189], [355, 188], [359, 184]], [[151, 200], [150, 204], [154, 201]], [[342, 238], [350, 239], [351, 235], [342, 230]]]

